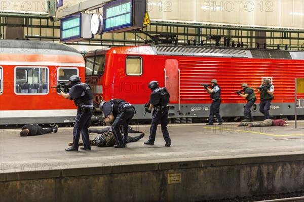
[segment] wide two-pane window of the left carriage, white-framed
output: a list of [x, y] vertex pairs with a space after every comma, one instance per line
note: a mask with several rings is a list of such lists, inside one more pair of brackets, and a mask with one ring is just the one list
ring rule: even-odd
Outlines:
[[16, 67], [15, 93], [18, 95], [47, 94], [49, 69], [47, 67]]

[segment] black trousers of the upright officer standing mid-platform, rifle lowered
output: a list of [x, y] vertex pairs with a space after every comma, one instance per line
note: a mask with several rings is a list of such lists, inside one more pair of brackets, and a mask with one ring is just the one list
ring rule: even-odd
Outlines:
[[169, 110], [167, 108], [164, 108], [163, 110], [158, 110], [158, 109], [153, 110], [152, 123], [151, 123], [151, 127], [150, 127], [150, 136], [149, 136], [149, 140], [148, 140], [149, 142], [154, 143], [155, 137], [156, 137], [157, 126], [158, 126], [159, 122], [161, 122], [164, 140], [166, 142], [171, 141], [170, 136], [169, 136], [169, 131], [167, 129], [168, 113], [169, 113]]

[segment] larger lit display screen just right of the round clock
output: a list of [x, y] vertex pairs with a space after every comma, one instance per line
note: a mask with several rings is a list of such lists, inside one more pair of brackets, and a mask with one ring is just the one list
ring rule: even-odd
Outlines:
[[132, 0], [118, 0], [103, 6], [103, 32], [132, 26]]

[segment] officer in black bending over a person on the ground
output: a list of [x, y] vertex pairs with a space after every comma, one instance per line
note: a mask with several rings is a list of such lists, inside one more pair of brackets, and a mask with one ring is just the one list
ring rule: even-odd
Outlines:
[[[102, 101], [99, 105], [109, 121], [112, 123], [111, 129], [116, 141], [115, 148], [124, 148], [127, 146], [129, 124], [134, 116], [135, 107], [129, 102], [121, 99], [112, 99], [108, 102]], [[120, 131], [120, 126], [123, 127], [124, 137]]]

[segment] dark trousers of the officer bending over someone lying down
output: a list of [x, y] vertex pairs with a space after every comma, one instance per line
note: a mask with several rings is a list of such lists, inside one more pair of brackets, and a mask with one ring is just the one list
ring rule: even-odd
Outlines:
[[[135, 114], [133, 108], [126, 109], [120, 113], [114, 120], [112, 124], [112, 132], [116, 141], [116, 145], [121, 146], [127, 143], [129, 124]], [[122, 133], [120, 131], [120, 126], [123, 127], [124, 137], [122, 138]]]

